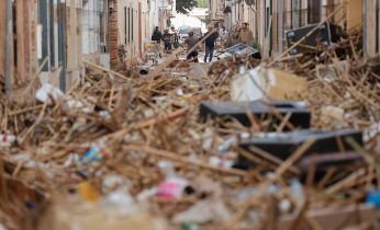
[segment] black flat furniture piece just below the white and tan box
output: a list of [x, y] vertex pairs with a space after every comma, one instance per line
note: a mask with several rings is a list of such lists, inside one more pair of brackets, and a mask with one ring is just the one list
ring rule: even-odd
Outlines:
[[[281, 124], [281, 117], [290, 114], [289, 123], [295, 128], [310, 128], [311, 114], [304, 102], [273, 101], [273, 102], [214, 102], [205, 101], [200, 104], [200, 120], [206, 122], [209, 118], [234, 118], [244, 126], [252, 123], [247, 115], [252, 113], [256, 119], [265, 120], [272, 118], [272, 125]], [[289, 130], [286, 127], [286, 130]]]

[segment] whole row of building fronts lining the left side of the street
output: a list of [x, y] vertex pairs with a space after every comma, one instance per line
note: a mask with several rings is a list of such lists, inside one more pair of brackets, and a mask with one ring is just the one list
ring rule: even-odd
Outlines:
[[153, 28], [170, 26], [172, 0], [1, 0], [0, 85], [22, 90], [35, 76], [63, 90], [83, 59], [107, 68], [144, 58]]

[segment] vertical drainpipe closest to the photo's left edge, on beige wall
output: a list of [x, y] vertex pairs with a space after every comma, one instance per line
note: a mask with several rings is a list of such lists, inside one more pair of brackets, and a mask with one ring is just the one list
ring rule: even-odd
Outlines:
[[5, 22], [5, 93], [8, 99], [11, 96], [11, 87], [12, 87], [12, 71], [11, 71], [11, 62], [12, 62], [12, 47], [13, 47], [13, 9], [12, 9], [12, 0], [7, 0], [7, 22]]

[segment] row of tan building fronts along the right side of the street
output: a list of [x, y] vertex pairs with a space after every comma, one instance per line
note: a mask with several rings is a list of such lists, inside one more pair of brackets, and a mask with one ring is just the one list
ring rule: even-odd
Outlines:
[[[219, 2], [211, 1], [212, 5]], [[284, 50], [286, 31], [318, 23], [333, 12], [331, 22], [347, 30], [362, 27], [365, 51], [380, 51], [379, 0], [225, 0], [224, 5], [224, 24], [231, 28], [249, 23], [261, 46], [269, 41], [272, 55]]]

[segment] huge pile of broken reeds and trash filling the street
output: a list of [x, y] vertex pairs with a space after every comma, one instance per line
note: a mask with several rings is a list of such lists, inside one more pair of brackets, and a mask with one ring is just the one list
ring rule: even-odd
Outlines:
[[378, 229], [379, 57], [334, 53], [1, 99], [0, 229]]

